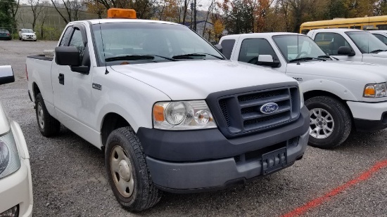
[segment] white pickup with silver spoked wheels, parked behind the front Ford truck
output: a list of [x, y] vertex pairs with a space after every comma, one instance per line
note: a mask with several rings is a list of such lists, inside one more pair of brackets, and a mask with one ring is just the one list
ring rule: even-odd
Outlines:
[[225, 36], [231, 60], [266, 65], [298, 80], [310, 110], [310, 145], [334, 147], [359, 131], [387, 127], [387, 66], [334, 60], [303, 34]]

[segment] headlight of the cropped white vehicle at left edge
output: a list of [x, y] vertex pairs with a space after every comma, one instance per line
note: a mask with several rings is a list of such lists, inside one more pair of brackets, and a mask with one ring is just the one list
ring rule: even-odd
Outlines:
[[18, 148], [10, 131], [4, 136], [0, 136], [0, 179], [15, 173], [19, 168]]

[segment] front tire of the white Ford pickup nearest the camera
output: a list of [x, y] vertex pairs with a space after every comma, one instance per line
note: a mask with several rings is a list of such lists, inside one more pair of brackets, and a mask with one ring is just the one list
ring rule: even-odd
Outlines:
[[[124, 151], [121, 154], [125, 154], [126, 158], [120, 159], [120, 153], [117, 150], [121, 149]], [[120, 205], [129, 211], [137, 212], [149, 209], [161, 199], [162, 192], [153, 184], [145, 157], [146, 155], [144, 154], [139, 138], [130, 127], [116, 129], [108, 136], [105, 150], [105, 166], [110, 187]], [[125, 159], [125, 162], [129, 161], [129, 164], [125, 162], [123, 164], [131, 168], [130, 175], [127, 176], [126, 174], [128, 173], [125, 172], [123, 174], [130, 178], [121, 176], [121, 171], [117, 171], [117, 166], [113, 165], [113, 158], [117, 162], [120, 162], [120, 169], [122, 160]], [[127, 185], [130, 185], [130, 181], [132, 180], [132, 191], [124, 187], [125, 191], [123, 192], [124, 195], [122, 195], [120, 190], [118, 190], [120, 179], [122, 179], [123, 183], [127, 183]]]

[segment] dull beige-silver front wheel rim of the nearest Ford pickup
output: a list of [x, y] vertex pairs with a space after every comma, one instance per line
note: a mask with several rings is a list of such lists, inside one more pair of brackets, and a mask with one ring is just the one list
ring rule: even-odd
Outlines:
[[125, 150], [118, 145], [110, 153], [110, 170], [115, 188], [122, 197], [130, 197], [134, 190], [132, 164]]

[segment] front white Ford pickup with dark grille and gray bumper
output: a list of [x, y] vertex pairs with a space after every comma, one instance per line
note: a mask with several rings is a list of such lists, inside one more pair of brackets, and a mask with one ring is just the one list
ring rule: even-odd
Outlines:
[[70, 22], [54, 58], [28, 57], [27, 74], [41, 133], [63, 124], [105, 150], [129, 211], [156, 204], [160, 190], [214, 190], [279, 171], [307, 146], [296, 80], [225, 60], [183, 25]]

